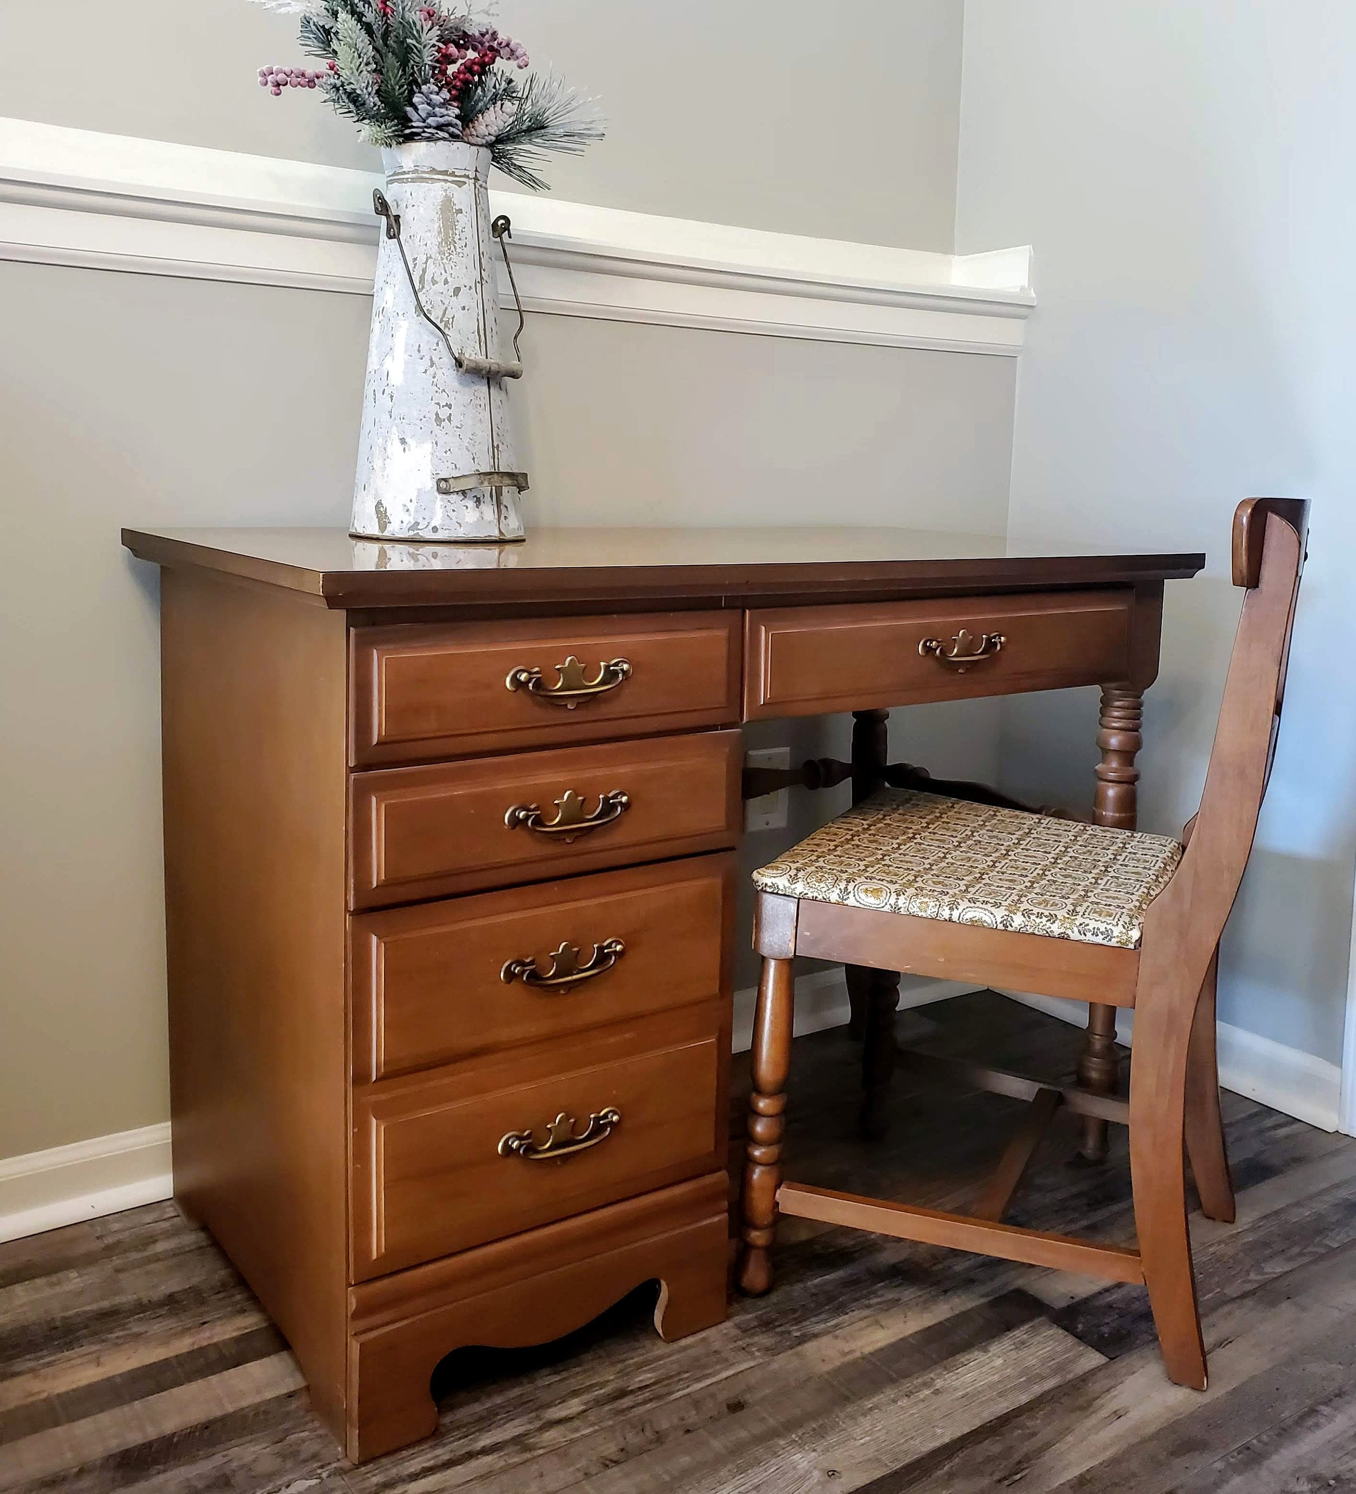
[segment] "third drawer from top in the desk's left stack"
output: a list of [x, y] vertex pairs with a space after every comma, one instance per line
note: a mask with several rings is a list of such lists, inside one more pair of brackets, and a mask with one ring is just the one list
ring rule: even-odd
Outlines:
[[733, 904], [721, 855], [358, 914], [354, 1077], [724, 996]]

